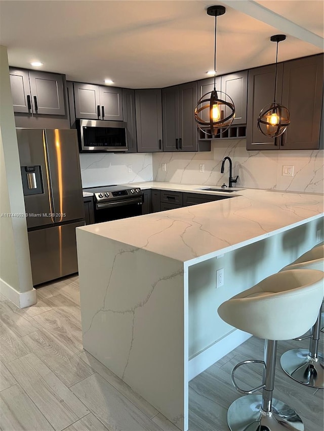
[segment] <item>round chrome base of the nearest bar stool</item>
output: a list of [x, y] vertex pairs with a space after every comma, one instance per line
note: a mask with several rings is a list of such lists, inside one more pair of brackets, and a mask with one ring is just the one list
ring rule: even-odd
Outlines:
[[227, 411], [231, 431], [304, 431], [299, 415], [281, 401], [272, 399], [271, 413], [261, 411], [262, 395], [235, 400]]

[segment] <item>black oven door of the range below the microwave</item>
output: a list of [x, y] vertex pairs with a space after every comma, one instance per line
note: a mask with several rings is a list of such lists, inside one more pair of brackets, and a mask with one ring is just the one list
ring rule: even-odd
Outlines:
[[110, 202], [97, 202], [95, 222], [118, 220], [120, 218], [142, 215], [143, 196]]

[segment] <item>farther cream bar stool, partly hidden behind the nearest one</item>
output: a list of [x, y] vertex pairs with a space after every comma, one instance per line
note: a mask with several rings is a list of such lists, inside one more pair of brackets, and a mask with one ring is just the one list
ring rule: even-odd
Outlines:
[[[324, 246], [318, 245], [304, 253], [291, 265], [282, 268], [281, 271], [290, 269], [319, 269], [324, 271]], [[309, 338], [309, 349], [288, 350], [280, 358], [281, 368], [290, 377], [312, 388], [324, 388], [324, 357], [318, 353], [322, 309], [323, 305], [319, 310], [317, 320], [311, 328], [310, 334], [297, 338], [297, 340]]]

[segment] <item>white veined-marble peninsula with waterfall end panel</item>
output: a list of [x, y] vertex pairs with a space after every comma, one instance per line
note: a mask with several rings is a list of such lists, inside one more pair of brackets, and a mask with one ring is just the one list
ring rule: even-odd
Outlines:
[[322, 195], [234, 193], [76, 229], [84, 348], [181, 430], [188, 381], [250, 336], [217, 307], [322, 241]]

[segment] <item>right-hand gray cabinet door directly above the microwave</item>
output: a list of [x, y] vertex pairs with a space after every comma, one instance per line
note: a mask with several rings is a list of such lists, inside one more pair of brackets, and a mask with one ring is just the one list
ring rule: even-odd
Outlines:
[[123, 121], [123, 93], [121, 88], [99, 86], [102, 120]]

